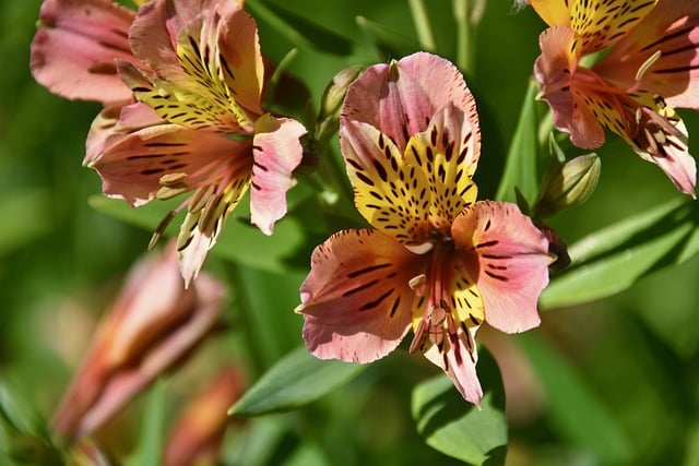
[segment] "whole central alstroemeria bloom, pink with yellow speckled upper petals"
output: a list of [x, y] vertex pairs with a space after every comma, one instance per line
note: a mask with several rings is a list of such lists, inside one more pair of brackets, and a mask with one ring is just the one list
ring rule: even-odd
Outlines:
[[369, 68], [347, 91], [340, 135], [355, 204], [375, 228], [313, 251], [297, 309], [307, 347], [369, 362], [412, 326], [411, 350], [477, 404], [476, 330], [540, 323], [548, 241], [514, 204], [475, 201], [478, 117], [449, 61], [419, 52]]

